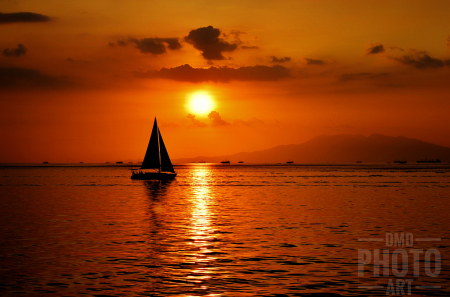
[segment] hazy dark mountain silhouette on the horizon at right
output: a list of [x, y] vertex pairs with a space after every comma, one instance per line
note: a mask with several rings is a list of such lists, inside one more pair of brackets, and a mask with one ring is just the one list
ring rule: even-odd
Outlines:
[[439, 159], [450, 161], [450, 148], [403, 136], [392, 137], [381, 134], [322, 135], [301, 144], [279, 145], [270, 149], [242, 152], [232, 155], [175, 159], [175, 164], [207, 162], [219, 163], [282, 163], [295, 160], [299, 163], [387, 163], [404, 160]]

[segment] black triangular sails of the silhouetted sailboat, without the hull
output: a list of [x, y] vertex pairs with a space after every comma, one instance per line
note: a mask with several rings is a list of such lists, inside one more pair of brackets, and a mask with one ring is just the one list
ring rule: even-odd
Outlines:
[[145, 153], [141, 169], [159, 169], [159, 171], [175, 172], [161, 133], [159, 132], [156, 118], [153, 123], [152, 135], [148, 142], [147, 152]]

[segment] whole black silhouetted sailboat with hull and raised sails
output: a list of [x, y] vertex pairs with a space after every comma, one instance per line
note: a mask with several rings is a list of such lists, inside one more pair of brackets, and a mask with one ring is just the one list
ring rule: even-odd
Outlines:
[[148, 142], [147, 152], [145, 153], [144, 161], [141, 169], [158, 169], [158, 171], [144, 172], [142, 170], [132, 171], [132, 179], [174, 179], [177, 174], [173, 170], [172, 162], [167, 153], [166, 146], [162, 140], [161, 132], [158, 128], [158, 123], [153, 123], [153, 130]]

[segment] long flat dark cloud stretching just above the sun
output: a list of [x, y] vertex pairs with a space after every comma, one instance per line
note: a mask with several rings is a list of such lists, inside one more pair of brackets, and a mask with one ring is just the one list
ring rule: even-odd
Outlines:
[[145, 73], [135, 72], [135, 75], [141, 78], [162, 78], [192, 83], [200, 83], [205, 81], [230, 82], [233, 80], [277, 81], [292, 77], [289, 69], [280, 65], [274, 65], [271, 67], [257, 65], [240, 68], [192, 68], [190, 65], [185, 64], [174, 68], [162, 68], [161, 70], [147, 71]]

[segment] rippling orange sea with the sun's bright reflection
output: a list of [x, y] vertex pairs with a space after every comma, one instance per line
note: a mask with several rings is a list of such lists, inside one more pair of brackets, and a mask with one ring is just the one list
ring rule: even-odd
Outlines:
[[1, 296], [449, 296], [450, 164], [0, 166]]

